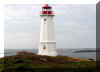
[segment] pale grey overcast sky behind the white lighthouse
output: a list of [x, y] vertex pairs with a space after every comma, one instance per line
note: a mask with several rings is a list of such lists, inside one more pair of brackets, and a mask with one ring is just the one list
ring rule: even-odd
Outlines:
[[[39, 4], [5, 5], [5, 48], [38, 48]], [[95, 4], [55, 4], [57, 48], [96, 47]]]

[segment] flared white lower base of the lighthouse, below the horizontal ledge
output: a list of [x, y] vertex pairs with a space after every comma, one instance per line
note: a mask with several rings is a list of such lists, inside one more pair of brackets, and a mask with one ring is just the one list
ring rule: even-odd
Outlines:
[[40, 42], [39, 55], [57, 56], [56, 42]]

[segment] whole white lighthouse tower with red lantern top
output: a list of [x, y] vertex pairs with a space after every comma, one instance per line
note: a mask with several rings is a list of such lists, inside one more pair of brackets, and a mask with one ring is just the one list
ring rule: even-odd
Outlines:
[[52, 7], [46, 4], [40, 14], [39, 55], [57, 56]]

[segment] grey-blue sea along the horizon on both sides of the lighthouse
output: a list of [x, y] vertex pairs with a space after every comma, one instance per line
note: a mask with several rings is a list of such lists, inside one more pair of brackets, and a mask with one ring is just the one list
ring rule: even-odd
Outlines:
[[[70, 57], [79, 57], [79, 58], [91, 58], [96, 60], [96, 51], [93, 52], [75, 52], [79, 50], [95, 50], [95, 48], [88, 49], [65, 49], [65, 48], [59, 48], [57, 49], [58, 55], [64, 55], [64, 56], [70, 56]], [[27, 51], [32, 53], [38, 53], [38, 49], [5, 49], [4, 50], [4, 56], [11, 56], [16, 55], [17, 52], [21, 51]]]

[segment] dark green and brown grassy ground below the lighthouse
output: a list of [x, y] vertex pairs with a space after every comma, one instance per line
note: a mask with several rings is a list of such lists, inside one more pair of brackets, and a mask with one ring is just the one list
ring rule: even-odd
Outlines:
[[93, 59], [41, 56], [19, 52], [0, 59], [0, 72], [100, 72]]

